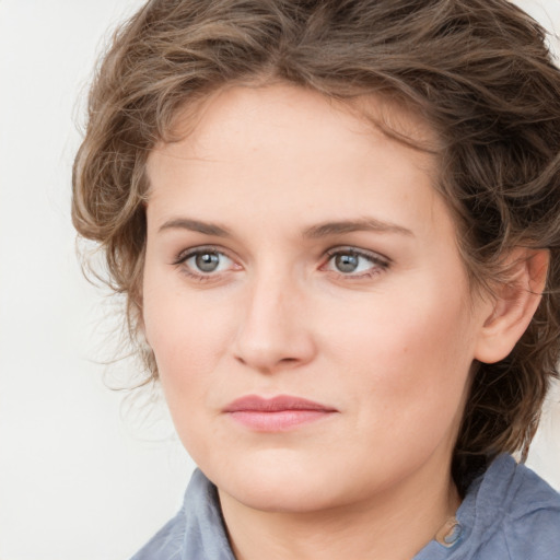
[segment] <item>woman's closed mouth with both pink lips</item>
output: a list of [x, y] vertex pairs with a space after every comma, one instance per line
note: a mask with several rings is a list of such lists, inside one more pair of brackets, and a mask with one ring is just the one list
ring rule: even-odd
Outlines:
[[337, 413], [336, 408], [289, 395], [262, 398], [248, 395], [228, 405], [232, 420], [257, 432], [284, 432]]

